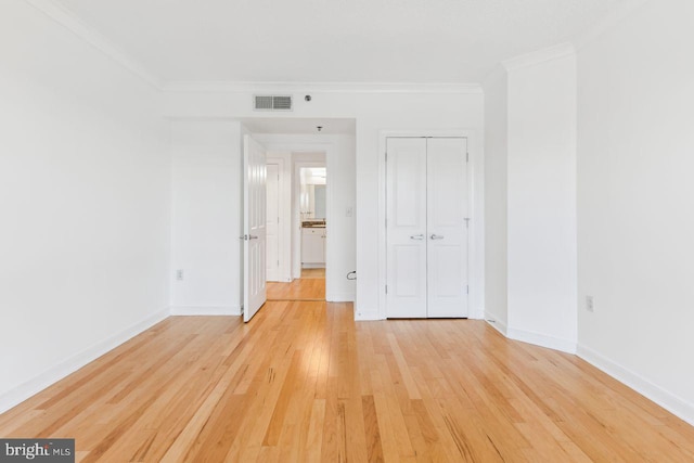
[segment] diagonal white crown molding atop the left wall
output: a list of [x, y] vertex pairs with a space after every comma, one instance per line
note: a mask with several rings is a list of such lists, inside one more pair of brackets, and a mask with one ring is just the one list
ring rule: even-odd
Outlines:
[[56, 0], [25, 0], [28, 4], [44, 13], [57, 24], [70, 30], [79, 38], [101, 51], [136, 76], [140, 77], [157, 90], [162, 89], [160, 78], [150, 73], [142, 64], [133, 60], [121, 49], [107, 40], [100, 33], [85, 24], [77, 15]]

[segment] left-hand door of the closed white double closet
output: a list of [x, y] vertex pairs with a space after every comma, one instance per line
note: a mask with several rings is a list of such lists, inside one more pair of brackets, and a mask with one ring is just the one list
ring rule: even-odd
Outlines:
[[387, 140], [387, 317], [426, 318], [426, 139]]

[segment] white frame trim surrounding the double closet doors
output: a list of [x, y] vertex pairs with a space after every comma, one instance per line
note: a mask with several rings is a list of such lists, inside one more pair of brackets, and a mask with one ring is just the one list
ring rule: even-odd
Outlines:
[[[468, 295], [468, 318], [484, 318], [484, 310], [480, 310], [480, 300], [484, 300], [484, 267], [480, 271], [479, 258], [477, 252], [480, 246], [479, 240], [484, 240], [484, 233], [478, 231], [478, 227], [484, 223], [477, 220], [477, 195], [475, 194], [475, 170], [476, 158], [479, 156], [475, 131], [470, 129], [451, 129], [451, 130], [381, 130], [378, 132], [378, 319], [387, 319], [387, 301], [386, 301], [386, 282], [387, 282], [387, 234], [386, 234], [386, 149], [388, 138], [436, 138], [436, 137], [457, 137], [467, 139], [467, 207], [470, 210], [470, 229], [467, 235], [467, 268], [470, 278], [470, 295]], [[484, 165], [484, 164], [483, 164]], [[481, 273], [481, 274], [480, 274]]]

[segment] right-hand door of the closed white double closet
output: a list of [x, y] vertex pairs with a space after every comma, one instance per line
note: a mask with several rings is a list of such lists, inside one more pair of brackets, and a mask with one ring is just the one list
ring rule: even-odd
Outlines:
[[466, 139], [427, 141], [427, 317], [467, 317]]

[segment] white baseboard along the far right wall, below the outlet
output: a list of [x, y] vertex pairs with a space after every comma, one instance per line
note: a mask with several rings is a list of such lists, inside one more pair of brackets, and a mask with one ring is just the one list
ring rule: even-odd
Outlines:
[[609, 360], [608, 358], [597, 353], [593, 349], [578, 345], [578, 357], [586, 360], [588, 363], [597, 368], [599, 370], [607, 373], [618, 382], [626, 384], [637, 393], [653, 400], [658, 406], [663, 407], [667, 411], [681, 417], [689, 424], [694, 426], [694, 404], [686, 400], [676, 396], [674, 394], [663, 389], [644, 378], [643, 376], [630, 371], [629, 369], [620, 365], [617, 362]]

